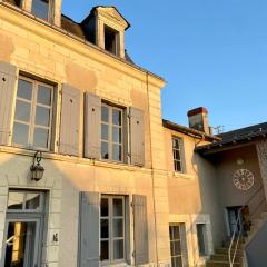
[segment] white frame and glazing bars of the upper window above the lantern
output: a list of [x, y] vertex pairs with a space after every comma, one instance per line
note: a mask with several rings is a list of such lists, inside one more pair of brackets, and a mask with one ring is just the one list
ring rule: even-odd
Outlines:
[[[24, 145], [21, 145], [21, 144], [16, 144], [13, 142], [13, 132], [12, 132], [12, 139], [11, 139], [11, 142], [12, 142], [12, 146], [14, 147], [20, 147], [20, 148], [29, 148], [29, 149], [38, 149], [38, 150], [42, 150], [42, 151], [50, 151], [51, 149], [51, 136], [52, 136], [52, 118], [53, 118], [53, 96], [55, 96], [55, 87], [49, 85], [49, 83], [46, 83], [46, 82], [41, 82], [37, 79], [31, 79], [31, 78], [28, 78], [28, 77], [24, 77], [24, 76], [19, 76], [19, 80], [24, 80], [27, 82], [30, 82], [32, 83], [32, 99], [31, 100], [28, 100], [28, 99], [23, 99], [23, 98], [20, 98], [16, 95], [16, 101], [14, 101], [14, 118], [13, 118], [13, 127], [14, 127], [14, 123], [18, 122], [18, 123], [22, 123], [22, 125], [27, 125], [29, 127], [29, 132], [28, 132], [28, 145], [24, 146]], [[38, 103], [37, 102], [37, 98], [38, 98], [38, 86], [44, 86], [47, 88], [50, 88], [51, 89], [51, 105], [50, 106], [47, 106], [47, 105], [43, 105], [43, 103]], [[19, 82], [18, 82], [18, 88], [19, 88]], [[17, 89], [18, 90], [18, 89]], [[30, 121], [29, 122], [24, 122], [24, 121], [20, 121], [20, 120], [17, 120], [16, 119], [16, 106], [17, 106], [17, 100], [19, 101], [22, 101], [22, 102], [27, 102], [27, 103], [30, 103], [31, 105], [31, 108], [30, 108]], [[43, 108], [47, 108], [47, 109], [50, 109], [50, 117], [49, 117], [49, 126], [39, 126], [39, 125], [36, 125], [36, 109], [37, 109], [37, 106], [39, 107], [43, 107]], [[38, 127], [38, 128], [41, 128], [41, 129], [46, 129], [48, 130], [48, 147], [47, 148], [42, 148], [42, 147], [36, 147], [33, 146], [33, 139], [34, 139], [34, 127]]]

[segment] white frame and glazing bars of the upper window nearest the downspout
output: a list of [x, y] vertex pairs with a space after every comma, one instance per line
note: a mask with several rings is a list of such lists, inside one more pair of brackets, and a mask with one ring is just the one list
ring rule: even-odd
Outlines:
[[[109, 158], [108, 159], [105, 159], [102, 158], [102, 151], [100, 152], [100, 158], [101, 160], [106, 160], [106, 161], [113, 161], [113, 162], [123, 162], [125, 161], [125, 123], [123, 123], [123, 112], [125, 110], [122, 108], [118, 108], [116, 106], [111, 106], [111, 105], [108, 105], [106, 102], [102, 102], [101, 103], [101, 108], [102, 107], [107, 107], [108, 110], [109, 110], [109, 121], [106, 122], [106, 121], [102, 121], [102, 118], [101, 118], [101, 134], [100, 134], [100, 142], [101, 142], [101, 148], [102, 148], [102, 142], [106, 142], [108, 144], [108, 155], [109, 155]], [[112, 111], [113, 110], [118, 110], [121, 115], [121, 126], [117, 126], [117, 125], [113, 125], [112, 123]], [[106, 125], [108, 126], [108, 141], [102, 139], [102, 125]], [[113, 142], [112, 140], [112, 128], [116, 127], [116, 128], [119, 128], [121, 129], [121, 142]], [[113, 152], [113, 149], [112, 149], [112, 146], [113, 145], [118, 145], [118, 146], [121, 146], [121, 160], [116, 160], [112, 158], [112, 152]]]

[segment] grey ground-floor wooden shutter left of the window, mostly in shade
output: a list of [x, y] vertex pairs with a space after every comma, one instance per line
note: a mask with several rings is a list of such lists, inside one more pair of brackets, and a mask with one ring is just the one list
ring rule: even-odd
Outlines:
[[80, 194], [79, 267], [99, 267], [100, 264], [100, 194]]

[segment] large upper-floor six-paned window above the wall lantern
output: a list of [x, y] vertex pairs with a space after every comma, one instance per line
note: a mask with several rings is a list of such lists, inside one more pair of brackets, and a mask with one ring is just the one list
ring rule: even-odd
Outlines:
[[49, 150], [53, 87], [20, 77], [16, 99], [12, 144]]

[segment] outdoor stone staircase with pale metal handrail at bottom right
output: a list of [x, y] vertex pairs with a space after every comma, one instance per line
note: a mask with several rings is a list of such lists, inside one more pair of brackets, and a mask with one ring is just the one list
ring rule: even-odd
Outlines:
[[[259, 218], [253, 220], [250, 231], [248, 233], [248, 237], [243, 237], [239, 239], [237, 244], [237, 239], [234, 240], [231, 247], [231, 255], [234, 255], [235, 248], [237, 246], [235, 264], [233, 267], [244, 267], [244, 255], [245, 255], [245, 246], [254, 238], [260, 227], [267, 222], [267, 212], [263, 212]], [[220, 248], [215, 250], [215, 254], [210, 256], [210, 259], [206, 263], [206, 267], [229, 267], [229, 257], [228, 250], [230, 246], [231, 239], [228, 238], [224, 241]]]

